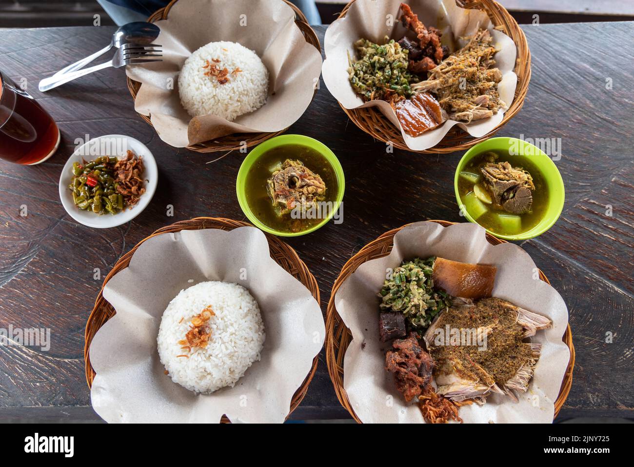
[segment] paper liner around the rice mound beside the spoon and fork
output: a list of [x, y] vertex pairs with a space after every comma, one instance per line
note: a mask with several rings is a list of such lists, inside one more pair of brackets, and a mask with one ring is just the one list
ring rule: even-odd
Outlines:
[[[185, 147], [231, 133], [280, 131], [308, 107], [321, 72], [321, 53], [295, 24], [295, 12], [281, 0], [183, 0], [157, 21], [163, 62], [126, 67], [143, 83], [134, 110], [150, 119], [159, 137]], [[193, 51], [232, 41], [256, 51], [269, 71], [269, 95], [260, 109], [230, 122], [216, 115], [191, 118], [181, 105], [178, 74]]]

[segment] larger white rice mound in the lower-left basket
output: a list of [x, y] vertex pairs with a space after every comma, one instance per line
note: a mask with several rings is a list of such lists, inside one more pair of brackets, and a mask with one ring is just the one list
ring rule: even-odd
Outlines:
[[[216, 315], [207, 324], [211, 337], [205, 348], [181, 348], [191, 318], [211, 306]], [[188, 390], [209, 393], [233, 386], [264, 345], [264, 323], [256, 300], [238, 284], [200, 282], [167, 305], [159, 327], [159, 357], [172, 381]], [[178, 355], [188, 355], [178, 357]]]

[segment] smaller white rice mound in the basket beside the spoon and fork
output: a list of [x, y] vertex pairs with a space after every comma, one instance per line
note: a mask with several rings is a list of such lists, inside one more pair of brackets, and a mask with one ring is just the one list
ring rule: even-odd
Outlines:
[[[207, 60], [228, 70], [228, 82], [220, 84], [216, 77], [205, 76]], [[181, 103], [192, 117], [212, 114], [232, 121], [262, 107], [268, 89], [269, 72], [262, 60], [235, 42], [202, 46], [185, 60], [178, 76]]]

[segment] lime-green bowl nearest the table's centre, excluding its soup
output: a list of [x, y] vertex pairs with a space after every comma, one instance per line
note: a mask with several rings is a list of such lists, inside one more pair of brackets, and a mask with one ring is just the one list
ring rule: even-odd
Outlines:
[[[313, 225], [313, 227], [302, 230], [301, 232], [280, 232], [279, 230], [275, 230], [264, 225], [256, 217], [256, 215], [252, 213], [249, 204], [247, 203], [247, 195], [245, 193], [247, 174], [249, 173], [249, 170], [251, 166], [253, 166], [254, 162], [257, 161], [257, 158], [267, 152], [269, 149], [289, 144], [307, 146], [309, 148], [313, 148], [321, 155], [323, 155], [335, 171], [335, 175], [337, 176], [337, 185], [339, 186], [337, 199], [335, 199], [335, 206], [330, 213], [330, 216], [322, 220], [320, 223]], [[299, 237], [300, 235], [310, 234], [318, 228], [326, 225], [328, 221], [332, 219], [332, 216], [335, 214], [335, 212], [337, 212], [337, 209], [339, 209], [341, 201], [344, 199], [345, 188], [346, 179], [344, 178], [344, 169], [341, 168], [341, 164], [339, 162], [339, 159], [337, 159], [337, 156], [325, 144], [304, 135], [275, 136], [275, 138], [271, 138], [270, 140], [264, 141], [264, 143], [260, 143], [256, 146], [256, 148], [249, 152], [249, 155], [247, 155], [247, 157], [245, 157], [244, 161], [242, 162], [242, 166], [240, 166], [240, 170], [238, 171], [238, 180], [236, 180], [236, 194], [238, 195], [238, 203], [240, 203], [240, 207], [242, 208], [242, 212], [245, 213], [245, 216], [247, 216], [251, 223], [257, 228], [264, 230], [264, 232], [268, 232], [269, 234], [279, 235], [280, 237]]]

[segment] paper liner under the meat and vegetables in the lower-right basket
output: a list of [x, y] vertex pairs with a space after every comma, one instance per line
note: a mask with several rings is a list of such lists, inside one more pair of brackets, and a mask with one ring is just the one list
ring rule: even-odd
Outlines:
[[384, 369], [385, 351], [391, 343], [379, 341], [377, 293], [387, 268], [429, 256], [497, 266], [493, 296], [553, 322], [551, 328], [531, 338], [541, 343], [541, 357], [519, 402], [493, 395], [485, 405], [460, 407], [460, 417], [465, 423], [552, 423], [554, 402], [570, 359], [569, 348], [562, 342], [568, 324], [564, 299], [539, 279], [535, 263], [519, 246], [489, 244], [484, 229], [476, 224], [443, 227], [434, 222], [418, 222], [400, 230], [394, 236], [392, 252], [359, 266], [335, 296], [337, 312], [353, 335], [344, 358], [344, 388], [359, 419], [363, 423], [424, 422], [417, 404], [405, 402], [396, 390], [394, 375]]

